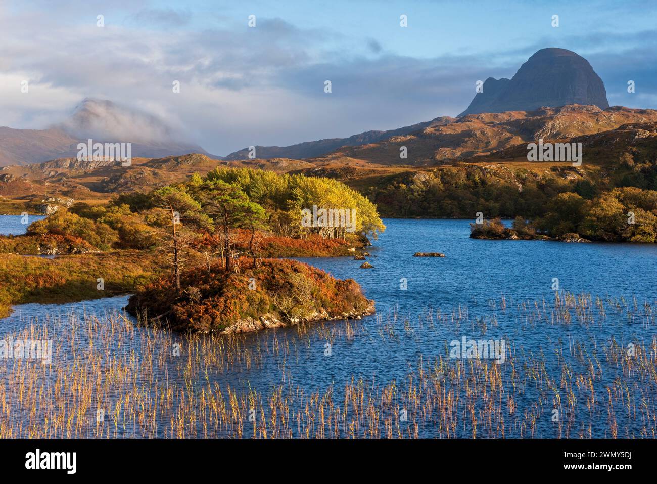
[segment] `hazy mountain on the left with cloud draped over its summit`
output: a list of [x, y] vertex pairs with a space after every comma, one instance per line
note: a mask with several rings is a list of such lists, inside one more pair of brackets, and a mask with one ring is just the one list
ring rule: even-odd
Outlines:
[[132, 143], [132, 156], [163, 158], [200, 153], [165, 122], [137, 110], [100, 99], [83, 99], [71, 116], [47, 130], [16, 130], [0, 127], [0, 166], [41, 163], [76, 157], [77, 145], [93, 139], [99, 143]]

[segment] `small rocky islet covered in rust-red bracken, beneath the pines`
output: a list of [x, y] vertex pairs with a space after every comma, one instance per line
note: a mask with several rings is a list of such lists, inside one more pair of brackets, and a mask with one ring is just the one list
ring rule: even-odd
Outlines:
[[295, 260], [263, 260], [240, 272], [212, 264], [183, 272], [181, 287], [160, 278], [139, 289], [127, 311], [174, 331], [200, 333], [246, 333], [374, 313], [374, 301], [363, 296], [353, 279], [335, 279]]

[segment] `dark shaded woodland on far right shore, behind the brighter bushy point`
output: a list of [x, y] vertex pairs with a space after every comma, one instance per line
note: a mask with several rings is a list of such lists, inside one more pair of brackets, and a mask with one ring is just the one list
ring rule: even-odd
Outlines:
[[[384, 217], [534, 219], [545, 216], [559, 193], [593, 201], [617, 187], [657, 190], [657, 160], [633, 162], [630, 155], [604, 170], [553, 167], [544, 172], [457, 164], [373, 179], [362, 190]], [[359, 181], [362, 183], [362, 180]]]

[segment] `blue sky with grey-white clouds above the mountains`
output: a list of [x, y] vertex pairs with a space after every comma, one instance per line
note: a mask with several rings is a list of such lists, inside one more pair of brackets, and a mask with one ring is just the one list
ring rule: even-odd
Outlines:
[[0, 126], [45, 129], [108, 99], [227, 155], [455, 116], [478, 80], [545, 47], [585, 57], [610, 105], [657, 109], [657, 2], [574, 4], [2, 0]]

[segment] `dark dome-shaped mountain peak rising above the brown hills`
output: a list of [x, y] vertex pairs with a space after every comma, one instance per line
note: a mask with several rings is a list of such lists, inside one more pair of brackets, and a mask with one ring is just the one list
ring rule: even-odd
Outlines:
[[569, 104], [607, 109], [607, 93], [589, 61], [567, 49], [537, 51], [511, 80], [488, 78], [459, 116], [480, 112], [530, 111]]

